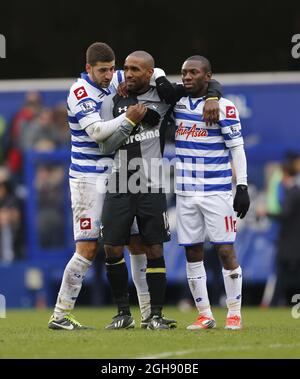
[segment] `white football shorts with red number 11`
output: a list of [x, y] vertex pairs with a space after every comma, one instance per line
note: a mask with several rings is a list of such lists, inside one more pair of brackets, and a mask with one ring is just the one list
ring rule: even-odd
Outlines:
[[203, 243], [232, 244], [236, 237], [236, 214], [232, 193], [210, 196], [176, 196], [179, 245]]

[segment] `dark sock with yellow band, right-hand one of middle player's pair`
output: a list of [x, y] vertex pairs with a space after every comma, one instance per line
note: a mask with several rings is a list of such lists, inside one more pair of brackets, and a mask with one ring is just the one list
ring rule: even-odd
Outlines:
[[164, 257], [147, 260], [146, 279], [150, 293], [151, 317], [161, 316], [167, 286]]

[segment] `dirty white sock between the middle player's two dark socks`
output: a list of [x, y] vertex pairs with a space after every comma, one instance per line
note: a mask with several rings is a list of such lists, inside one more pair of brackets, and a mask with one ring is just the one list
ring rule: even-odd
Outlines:
[[142, 320], [151, 314], [150, 294], [146, 280], [147, 257], [146, 254], [130, 254], [132, 280], [139, 300]]

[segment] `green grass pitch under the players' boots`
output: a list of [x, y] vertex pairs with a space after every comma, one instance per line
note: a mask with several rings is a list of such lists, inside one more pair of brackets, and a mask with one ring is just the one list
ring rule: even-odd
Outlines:
[[241, 331], [224, 330], [226, 310], [213, 311], [212, 330], [186, 330], [196, 312], [167, 307], [177, 329], [141, 330], [133, 308], [135, 329], [109, 331], [115, 309], [77, 308], [76, 318], [95, 330], [69, 332], [47, 329], [51, 310], [10, 310], [0, 319], [0, 358], [300, 358], [300, 319], [290, 308], [244, 308]]

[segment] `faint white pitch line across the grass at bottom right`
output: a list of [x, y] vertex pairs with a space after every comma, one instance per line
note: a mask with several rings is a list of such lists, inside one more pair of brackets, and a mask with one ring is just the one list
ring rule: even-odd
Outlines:
[[134, 359], [161, 359], [168, 358], [172, 356], [182, 356], [190, 353], [211, 353], [211, 352], [219, 352], [219, 351], [240, 351], [240, 350], [250, 350], [250, 349], [292, 349], [295, 347], [300, 347], [300, 344], [271, 344], [267, 346], [257, 346], [257, 345], [247, 345], [247, 346], [237, 346], [237, 347], [228, 347], [228, 346], [219, 346], [217, 348], [206, 348], [206, 349], [189, 349], [189, 350], [179, 350], [179, 351], [166, 351], [164, 353], [156, 354], [156, 355], [148, 355], [143, 357], [135, 357]]

